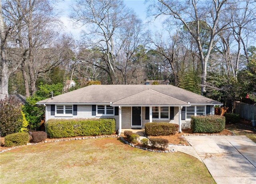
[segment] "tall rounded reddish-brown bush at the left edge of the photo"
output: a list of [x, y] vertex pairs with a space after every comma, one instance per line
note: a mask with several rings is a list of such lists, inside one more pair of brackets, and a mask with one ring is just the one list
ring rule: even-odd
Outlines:
[[22, 128], [22, 105], [14, 97], [0, 100], [0, 135], [19, 132]]

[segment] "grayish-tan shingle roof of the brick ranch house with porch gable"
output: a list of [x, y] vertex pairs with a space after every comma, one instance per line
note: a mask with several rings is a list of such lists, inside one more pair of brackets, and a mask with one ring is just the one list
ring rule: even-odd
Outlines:
[[146, 103], [154, 105], [155, 103], [164, 103], [165, 101], [166, 103], [178, 103], [179, 101], [180, 105], [184, 104], [184, 102], [194, 104], [221, 104], [220, 102], [210, 98], [206, 98], [172, 85], [91, 85], [72, 92], [54, 96], [53, 99], [48, 98], [46, 100], [42, 100], [38, 102], [38, 104], [107, 104], [110, 102], [113, 102], [113, 104], [117, 104], [119, 102], [128, 104], [129, 100], [127, 97], [130, 97], [130, 103], [138, 101], [136, 102], [137, 104]]

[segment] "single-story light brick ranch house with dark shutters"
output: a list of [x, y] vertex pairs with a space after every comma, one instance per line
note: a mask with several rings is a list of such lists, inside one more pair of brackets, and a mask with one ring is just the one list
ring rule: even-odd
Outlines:
[[190, 117], [214, 114], [220, 102], [172, 85], [91, 85], [37, 102], [52, 118], [115, 118], [116, 130], [147, 122], [190, 126]]

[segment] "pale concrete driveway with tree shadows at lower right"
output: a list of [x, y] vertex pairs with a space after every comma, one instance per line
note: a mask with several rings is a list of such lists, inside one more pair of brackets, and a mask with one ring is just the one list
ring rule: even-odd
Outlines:
[[246, 136], [185, 136], [219, 183], [256, 184], [256, 143]]

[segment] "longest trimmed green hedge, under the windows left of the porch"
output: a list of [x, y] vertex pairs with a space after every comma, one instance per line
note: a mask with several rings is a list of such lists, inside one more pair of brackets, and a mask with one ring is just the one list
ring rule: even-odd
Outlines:
[[50, 138], [110, 135], [115, 132], [115, 127], [113, 118], [50, 119], [45, 123]]

